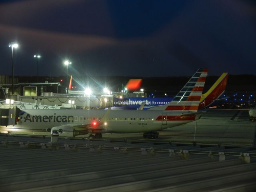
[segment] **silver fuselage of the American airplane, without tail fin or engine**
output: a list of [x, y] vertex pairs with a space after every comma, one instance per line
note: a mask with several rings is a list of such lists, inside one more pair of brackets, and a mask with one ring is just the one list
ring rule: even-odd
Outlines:
[[[86, 125], [99, 122], [107, 110], [26, 110], [16, 125], [0, 126], [0, 130], [47, 132], [53, 127], [73, 126], [85, 130]], [[185, 116], [186, 115], [186, 116]], [[91, 132], [148, 132], [162, 130], [197, 120], [200, 115], [188, 112], [159, 110], [111, 110], [106, 125], [95, 126]], [[84, 125], [84, 126], [83, 126]]]

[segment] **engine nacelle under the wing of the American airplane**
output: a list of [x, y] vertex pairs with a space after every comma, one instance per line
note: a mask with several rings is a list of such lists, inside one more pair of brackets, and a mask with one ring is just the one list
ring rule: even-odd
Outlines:
[[51, 131], [53, 130], [58, 131], [60, 137], [75, 137], [77, 135], [88, 134], [88, 130], [78, 131], [78, 130], [75, 130], [72, 126], [53, 127]]

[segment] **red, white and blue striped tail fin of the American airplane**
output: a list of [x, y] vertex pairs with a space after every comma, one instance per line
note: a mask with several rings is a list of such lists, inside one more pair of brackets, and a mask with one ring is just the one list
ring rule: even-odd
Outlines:
[[154, 107], [153, 109], [196, 112], [200, 104], [207, 73], [208, 69], [198, 69], [172, 101], [166, 105]]

